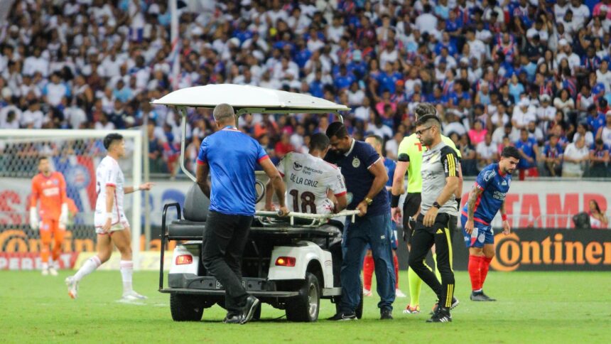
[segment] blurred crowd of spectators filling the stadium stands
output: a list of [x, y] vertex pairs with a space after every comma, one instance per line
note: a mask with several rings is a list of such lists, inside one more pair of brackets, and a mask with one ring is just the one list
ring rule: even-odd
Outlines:
[[[507, 145], [521, 178], [611, 176], [611, 0], [178, 2], [173, 45], [167, 0], [14, 1], [0, 31], [0, 127], [148, 119], [151, 171], [175, 174], [180, 116], [150, 101], [230, 82], [347, 104], [350, 134], [383, 136], [389, 158], [415, 104], [431, 102], [467, 176]], [[277, 160], [332, 117], [250, 114], [240, 128]], [[188, 124], [194, 166], [215, 124], [203, 109]]]

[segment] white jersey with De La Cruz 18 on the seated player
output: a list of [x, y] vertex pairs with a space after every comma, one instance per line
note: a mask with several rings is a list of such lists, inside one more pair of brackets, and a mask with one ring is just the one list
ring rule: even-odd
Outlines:
[[339, 197], [346, 194], [340, 169], [310, 154], [291, 152], [278, 164], [286, 183], [286, 206], [298, 213], [332, 213], [327, 190]]

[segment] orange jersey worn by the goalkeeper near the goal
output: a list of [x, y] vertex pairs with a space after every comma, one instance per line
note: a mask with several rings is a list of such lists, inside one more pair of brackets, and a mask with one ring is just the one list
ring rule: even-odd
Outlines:
[[40, 199], [40, 219], [58, 220], [62, 211], [62, 203], [67, 201], [66, 181], [62, 173], [53, 172], [45, 177], [38, 173], [32, 179], [31, 207], [36, 207]]

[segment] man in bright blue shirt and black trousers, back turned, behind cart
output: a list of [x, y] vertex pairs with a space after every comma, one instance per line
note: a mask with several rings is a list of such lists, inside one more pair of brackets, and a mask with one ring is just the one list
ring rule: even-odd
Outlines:
[[[218, 104], [213, 115], [217, 128], [202, 140], [197, 180], [210, 198], [210, 211], [202, 242], [205, 269], [225, 287], [225, 323], [247, 323], [259, 300], [242, 286], [242, 253], [254, 215], [254, 170], [259, 163], [274, 185], [280, 214], [288, 214], [280, 173], [259, 143], [236, 128], [229, 104]], [[208, 174], [212, 186], [208, 182]]]

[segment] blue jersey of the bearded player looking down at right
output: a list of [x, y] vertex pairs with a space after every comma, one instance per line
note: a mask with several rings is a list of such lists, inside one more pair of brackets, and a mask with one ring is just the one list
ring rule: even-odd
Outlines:
[[[475, 186], [483, 190], [475, 201], [473, 220], [484, 225], [490, 225], [494, 215], [501, 208], [505, 195], [509, 192], [512, 183], [511, 174], [501, 174], [499, 164], [491, 163], [477, 175]], [[463, 208], [463, 215], [467, 216], [468, 203]]]

